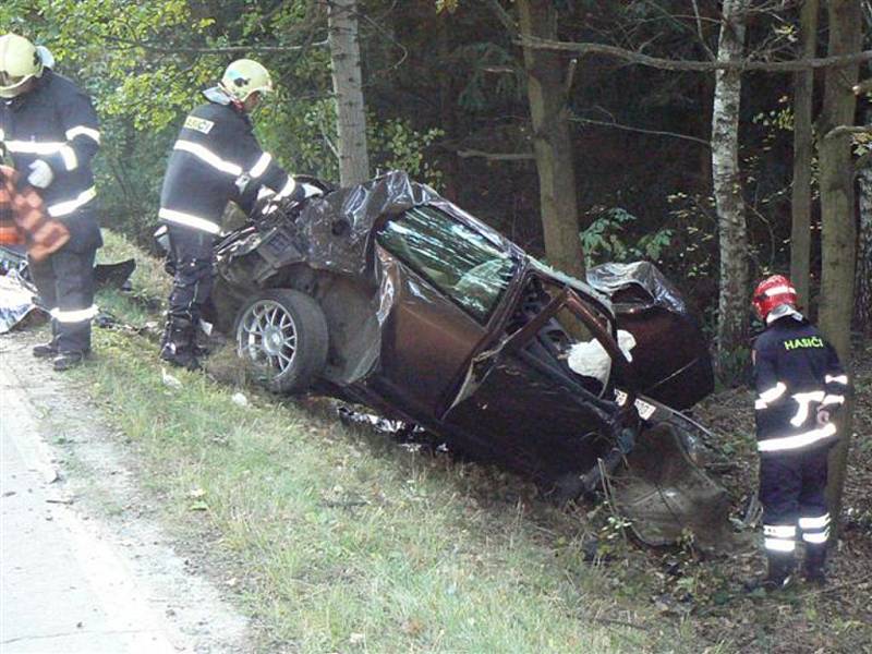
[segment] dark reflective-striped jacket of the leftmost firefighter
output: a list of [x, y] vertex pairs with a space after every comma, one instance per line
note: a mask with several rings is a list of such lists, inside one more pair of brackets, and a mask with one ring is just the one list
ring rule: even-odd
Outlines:
[[22, 178], [37, 159], [51, 168], [51, 184], [36, 191], [46, 213], [69, 229], [69, 246], [81, 252], [99, 247], [96, 218], [84, 210], [97, 195], [90, 160], [100, 145], [97, 113], [88, 97], [46, 69], [33, 89], [0, 100], [0, 142]]

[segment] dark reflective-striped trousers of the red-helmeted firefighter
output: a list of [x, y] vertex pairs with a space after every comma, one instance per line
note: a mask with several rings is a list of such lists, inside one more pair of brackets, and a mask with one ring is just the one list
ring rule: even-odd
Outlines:
[[792, 560], [801, 536], [807, 559], [822, 557], [829, 537], [827, 455], [832, 445], [765, 453], [760, 460], [760, 501], [766, 554]]

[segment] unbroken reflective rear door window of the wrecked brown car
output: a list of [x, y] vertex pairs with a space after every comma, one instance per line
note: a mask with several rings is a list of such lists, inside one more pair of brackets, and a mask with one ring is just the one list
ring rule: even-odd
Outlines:
[[377, 241], [480, 323], [487, 322], [514, 274], [508, 251], [433, 207], [391, 218]]

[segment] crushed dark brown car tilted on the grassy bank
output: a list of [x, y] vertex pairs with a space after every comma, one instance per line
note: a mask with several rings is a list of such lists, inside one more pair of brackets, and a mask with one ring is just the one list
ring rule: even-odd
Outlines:
[[205, 317], [272, 390], [364, 404], [565, 498], [607, 487], [646, 543], [724, 537], [708, 435], [679, 412], [712, 390], [708, 352], [651, 264], [567, 277], [402, 172], [267, 203], [216, 258]]

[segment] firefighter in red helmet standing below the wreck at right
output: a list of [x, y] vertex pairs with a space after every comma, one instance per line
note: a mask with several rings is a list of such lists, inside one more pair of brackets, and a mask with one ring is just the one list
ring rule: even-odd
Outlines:
[[848, 377], [818, 329], [796, 308], [786, 277], [756, 287], [753, 305], [766, 330], [753, 349], [760, 452], [760, 501], [768, 573], [758, 585], [787, 585], [802, 540], [807, 580], [825, 581], [829, 538], [827, 455], [837, 439], [834, 413], [845, 403]]

